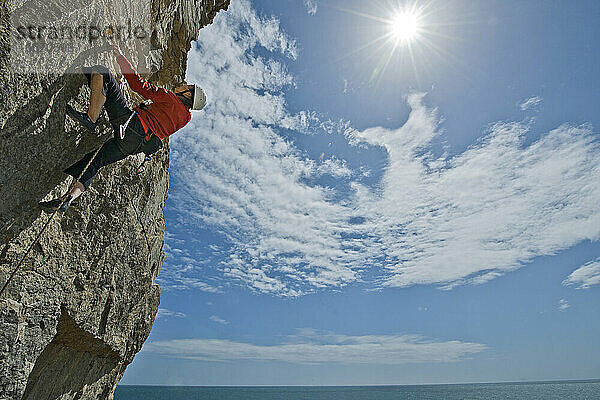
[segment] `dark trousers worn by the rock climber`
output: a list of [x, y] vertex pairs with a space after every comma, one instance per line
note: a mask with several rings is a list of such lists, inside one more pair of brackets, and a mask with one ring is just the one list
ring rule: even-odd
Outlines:
[[[117, 80], [106, 67], [96, 65], [84, 68], [83, 73], [88, 79], [88, 84], [91, 82], [92, 72], [97, 72], [102, 75], [102, 94], [106, 96], [104, 109], [108, 114], [108, 119], [114, 132], [113, 137], [108, 139], [102, 145], [98, 154], [96, 154], [96, 157], [94, 157], [94, 154], [96, 153], [94, 150], [65, 169], [65, 172], [75, 179], [79, 178], [81, 175], [79, 182], [81, 182], [86, 189], [90, 186], [92, 179], [96, 176], [100, 168], [122, 160], [129, 155], [141, 152], [152, 154], [162, 147], [160, 139], [154, 135], [151, 135], [152, 140], [150, 140], [150, 142], [146, 142], [144, 128], [137, 116], [134, 116], [131, 121], [129, 121], [125, 136], [121, 139], [119, 135], [119, 126], [127, 121], [132, 111], [127, 106], [127, 101], [123, 96], [123, 92], [121, 92]], [[94, 159], [85, 172], [81, 174], [92, 157], [94, 157]]]

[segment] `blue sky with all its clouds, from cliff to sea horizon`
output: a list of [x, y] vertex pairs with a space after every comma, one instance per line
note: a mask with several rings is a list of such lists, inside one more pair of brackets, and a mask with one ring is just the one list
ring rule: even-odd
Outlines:
[[597, 2], [232, 2], [124, 384], [598, 378]]

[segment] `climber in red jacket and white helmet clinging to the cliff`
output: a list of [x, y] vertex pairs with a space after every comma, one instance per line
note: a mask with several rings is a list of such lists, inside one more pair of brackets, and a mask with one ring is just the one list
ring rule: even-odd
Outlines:
[[[206, 95], [200, 86], [182, 84], [173, 91], [159, 88], [142, 80], [118, 45], [113, 52], [121, 72], [131, 89], [146, 99], [150, 106], [138, 106], [133, 111], [127, 106], [123, 92], [115, 77], [101, 65], [83, 68], [90, 86], [90, 105], [87, 113], [67, 104], [69, 117], [91, 130], [96, 129], [102, 106], [114, 130], [114, 136], [97, 151], [86, 154], [81, 160], [65, 169], [73, 177], [69, 192], [57, 199], [40, 202], [47, 210], [66, 211], [71, 203], [92, 183], [98, 170], [133, 154], [155, 153], [162, 147], [161, 139], [183, 128], [191, 119], [190, 110], [201, 110]], [[86, 168], [87, 167], [87, 168]]]

